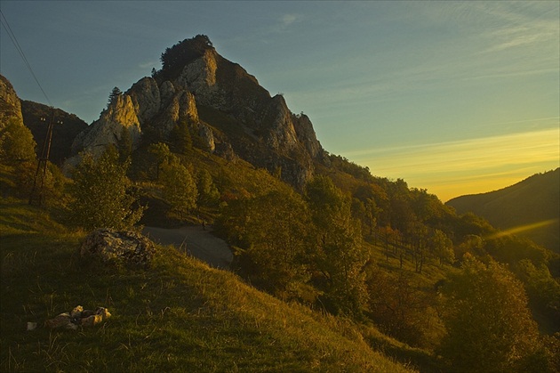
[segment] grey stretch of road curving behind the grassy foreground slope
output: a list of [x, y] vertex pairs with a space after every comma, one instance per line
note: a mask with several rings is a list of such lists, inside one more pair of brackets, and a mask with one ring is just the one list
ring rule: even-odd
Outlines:
[[215, 268], [228, 269], [233, 260], [226, 241], [212, 235], [212, 229], [209, 227], [206, 227], [205, 231], [200, 226], [176, 229], [144, 227], [142, 232], [154, 242], [174, 245]]

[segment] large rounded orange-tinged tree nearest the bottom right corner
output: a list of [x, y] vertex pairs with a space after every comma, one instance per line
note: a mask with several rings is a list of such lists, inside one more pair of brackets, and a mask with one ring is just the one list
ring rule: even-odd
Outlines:
[[538, 346], [523, 285], [496, 262], [472, 255], [444, 284], [447, 335], [440, 353], [454, 371], [515, 371]]

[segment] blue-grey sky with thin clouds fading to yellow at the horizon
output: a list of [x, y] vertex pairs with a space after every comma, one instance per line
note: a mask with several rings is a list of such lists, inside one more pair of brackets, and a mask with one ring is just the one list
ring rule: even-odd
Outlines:
[[[6, 1], [0, 74], [92, 123], [204, 34], [325, 150], [442, 201], [560, 166], [560, 2]], [[7, 22], [6, 22], [7, 21]], [[14, 47], [6, 24], [43, 88]]]

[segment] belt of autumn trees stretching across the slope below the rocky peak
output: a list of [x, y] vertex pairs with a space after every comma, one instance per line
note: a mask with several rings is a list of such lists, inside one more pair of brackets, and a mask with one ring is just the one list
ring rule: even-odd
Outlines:
[[[0, 133], [3, 164], [22, 170], [20, 192], [36, 165], [23, 132], [14, 125]], [[148, 182], [179, 220], [212, 209], [236, 271], [274, 296], [373, 322], [456, 371], [554, 370], [558, 338], [540, 337], [531, 313], [558, 315], [558, 259], [548, 251], [496, 237], [484, 219], [455, 215], [402, 180], [348, 177], [352, 165], [317, 174], [301, 193], [266, 171], [241, 182], [241, 166], [211, 174], [188, 125], [173, 134], [132, 150], [124, 129], [100, 158], [84, 154], [71, 181], [49, 166], [47, 189], [75, 225], [130, 229], [147, 211], [139, 199]], [[420, 281], [430, 267], [446, 273], [437, 286]]]

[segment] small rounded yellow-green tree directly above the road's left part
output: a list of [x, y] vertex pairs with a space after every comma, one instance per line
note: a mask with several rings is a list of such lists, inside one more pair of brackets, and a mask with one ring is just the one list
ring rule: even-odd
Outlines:
[[192, 174], [178, 158], [173, 157], [162, 167], [161, 181], [164, 184], [164, 199], [171, 205], [172, 213], [185, 218], [196, 207], [198, 195]]

